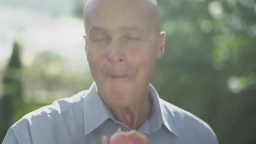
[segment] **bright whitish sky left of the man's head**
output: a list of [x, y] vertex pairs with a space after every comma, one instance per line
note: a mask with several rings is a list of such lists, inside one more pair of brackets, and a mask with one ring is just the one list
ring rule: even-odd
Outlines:
[[72, 16], [73, 9], [74, 0], [0, 0], [0, 61], [10, 57], [18, 40], [25, 62], [50, 50], [84, 63], [83, 21]]

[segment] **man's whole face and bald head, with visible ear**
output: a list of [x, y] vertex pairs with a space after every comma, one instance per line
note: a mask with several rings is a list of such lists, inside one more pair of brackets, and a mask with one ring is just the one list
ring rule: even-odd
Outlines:
[[164, 38], [145, 9], [129, 0], [99, 0], [85, 24], [86, 55], [99, 94], [113, 106], [135, 103], [147, 93]]

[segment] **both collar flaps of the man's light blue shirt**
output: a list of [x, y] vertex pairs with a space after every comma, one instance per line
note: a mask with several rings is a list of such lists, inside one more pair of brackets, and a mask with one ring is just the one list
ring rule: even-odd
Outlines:
[[[168, 109], [163, 105], [163, 102], [152, 84], [149, 84], [149, 93], [153, 99], [152, 115], [149, 118], [149, 126], [152, 132], [159, 130], [162, 124], [164, 124], [171, 133], [179, 137], [172, 121], [174, 116], [169, 114]], [[91, 131], [99, 127], [99, 125], [104, 123], [108, 118], [115, 120], [106, 104], [99, 96], [95, 82], [93, 82], [88, 89], [83, 103], [85, 135], [91, 133]]]

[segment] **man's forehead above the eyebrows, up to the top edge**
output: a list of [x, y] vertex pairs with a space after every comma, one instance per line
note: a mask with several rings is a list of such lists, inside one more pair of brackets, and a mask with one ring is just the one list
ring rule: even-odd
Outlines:
[[96, 0], [87, 6], [85, 31], [91, 28], [107, 30], [148, 30], [147, 8], [138, 0]]

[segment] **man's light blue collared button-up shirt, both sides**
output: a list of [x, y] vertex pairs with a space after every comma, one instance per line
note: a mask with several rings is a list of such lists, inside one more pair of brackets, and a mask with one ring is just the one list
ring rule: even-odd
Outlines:
[[[149, 84], [151, 117], [139, 128], [151, 144], [218, 144], [211, 127], [160, 97]], [[9, 128], [3, 144], [101, 144], [101, 136], [131, 131], [115, 120], [93, 83], [87, 91], [54, 101]]]

